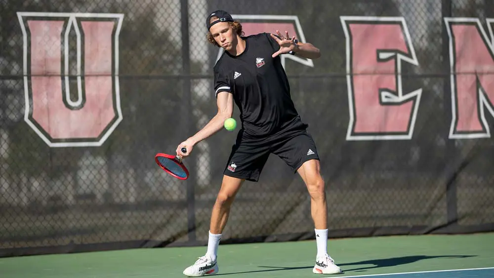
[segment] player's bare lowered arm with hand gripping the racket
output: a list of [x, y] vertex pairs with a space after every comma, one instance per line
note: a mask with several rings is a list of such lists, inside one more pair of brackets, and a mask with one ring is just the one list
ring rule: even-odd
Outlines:
[[[225, 120], [231, 118], [233, 115], [233, 94], [228, 91], [219, 92], [216, 97], [216, 105], [218, 106], [216, 115], [196, 134], [178, 145], [176, 149], [177, 155], [181, 157], [188, 156], [197, 143], [223, 128]], [[186, 154], [180, 151], [182, 147], [187, 148]]]

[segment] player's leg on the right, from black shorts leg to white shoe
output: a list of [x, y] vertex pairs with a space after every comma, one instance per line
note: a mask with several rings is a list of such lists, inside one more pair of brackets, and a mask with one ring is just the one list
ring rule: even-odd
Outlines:
[[320, 172], [320, 161], [314, 140], [308, 133], [302, 133], [276, 146], [274, 153], [300, 175], [311, 198], [311, 215], [317, 246], [316, 265], [313, 272], [317, 274], [341, 273], [341, 269], [328, 255], [326, 184]]

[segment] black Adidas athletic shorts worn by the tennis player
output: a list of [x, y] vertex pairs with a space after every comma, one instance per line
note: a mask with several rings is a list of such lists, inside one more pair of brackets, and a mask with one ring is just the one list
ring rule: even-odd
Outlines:
[[305, 161], [319, 160], [312, 136], [305, 128], [297, 127], [259, 139], [251, 138], [240, 130], [224, 174], [257, 182], [270, 154], [283, 159], [294, 173]]

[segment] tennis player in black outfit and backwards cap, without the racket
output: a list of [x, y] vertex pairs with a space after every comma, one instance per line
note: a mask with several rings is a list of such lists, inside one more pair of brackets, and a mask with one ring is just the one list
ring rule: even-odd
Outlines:
[[[184, 275], [199, 277], [218, 273], [217, 252], [232, 202], [245, 180], [257, 182], [269, 155], [283, 159], [303, 179], [311, 197], [317, 253], [313, 273], [338, 274], [341, 270], [328, 255], [325, 182], [319, 156], [308, 125], [303, 123], [290, 97], [290, 86], [280, 55], [317, 59], [320, 51], [311, 43], [261, 33], [244, 36], [242, 25], [217, 10], [206, 18], [207, 39], [225, 51], [214, 66], [217, 114], [196, 134], [178, 145], [178, 156], [187, 157], [194, 145], [223, 127], [232, 117], [233, 104], [240, 109], [241, 129], [225, 165], [223, 181], [212, 209], [206, 254]], [[187, 148], [182, 154], [180, 149]]]

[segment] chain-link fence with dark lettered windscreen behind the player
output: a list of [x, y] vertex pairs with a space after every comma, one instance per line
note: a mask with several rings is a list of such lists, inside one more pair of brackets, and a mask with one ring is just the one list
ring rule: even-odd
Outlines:
[[[173, 153], [216, 113], [211, 72], [221, 52], [205, 30], [215, 9], [239, 18], [246, 35], [287, 28], [321, 49], [320, 59], [283, 63], [321, 157], [330, 237], [494, 230], [494, 87], [479, 78], [488, 136], [452, 138], [445, 23], [478, 19], [492, 36], [491, 0], [0, 0], [0, 7], [0, 256], [206, 243], [236, 132], [199, 143], [185, 161], [187, 181], [159, 169], [154, 155]], [[342, 17], [351, 16], [406, 23], [417, 65], [401, 62], [403, 93], [422, 89], [407, 140], [347, 139], [347, 77], [358, 74], [347, 69]], [[364, 42], [376, 40], [368, 36]], [[493, 38], [484, 39], [489, 49]], [[492, 76], [494, 67], [477, 74]], [[238, 194], [223, 242], [309, 238], [307, 190], [271, 156], [259, 182]]]

